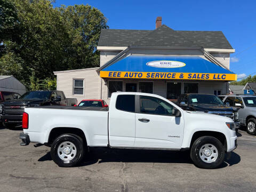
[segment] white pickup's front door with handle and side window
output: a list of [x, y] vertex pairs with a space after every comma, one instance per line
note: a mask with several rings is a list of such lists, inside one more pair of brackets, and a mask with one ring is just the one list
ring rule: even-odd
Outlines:
[[134, 147], [179, 148], [183, 140], [183, 115], [172, 115], [169, 102], [156, 97], [136, 95], [136, 135]]

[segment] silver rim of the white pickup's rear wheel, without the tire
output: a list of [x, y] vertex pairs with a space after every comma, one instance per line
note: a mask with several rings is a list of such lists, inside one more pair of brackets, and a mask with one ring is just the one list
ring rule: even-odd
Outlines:
[[76, 146], [74, 143], [65, 141], [58, 147], [58, 156], [63, 161], [70, 161], [76, 156]]

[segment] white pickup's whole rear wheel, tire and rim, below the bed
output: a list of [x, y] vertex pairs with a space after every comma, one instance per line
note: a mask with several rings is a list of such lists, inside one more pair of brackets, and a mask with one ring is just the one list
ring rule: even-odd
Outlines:
[[62, 134], [52, 143], [51, 157], [61, 167], [71, 167], [82, 161], [83, 140], [74, 134]]

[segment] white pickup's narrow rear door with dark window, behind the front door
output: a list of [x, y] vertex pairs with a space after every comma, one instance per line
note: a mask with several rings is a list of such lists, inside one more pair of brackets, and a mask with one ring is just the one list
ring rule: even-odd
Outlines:
[[135, 93], [112, 94], [109, 111], [110, 146], [133, 146], [135, 141]]

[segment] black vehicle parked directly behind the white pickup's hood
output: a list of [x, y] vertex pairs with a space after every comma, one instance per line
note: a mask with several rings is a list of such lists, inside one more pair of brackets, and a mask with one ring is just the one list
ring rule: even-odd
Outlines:
[[239, 108], [225, 105], [225, 103], [214, 94], [181, 94], [177, 102], [177, 105], [184, 110], [203, 111], [209, 114], [229, 117], [235, 122], [236, 131], [239, 128]]

